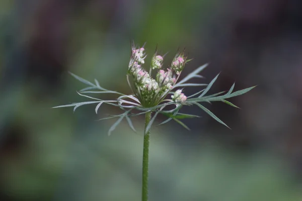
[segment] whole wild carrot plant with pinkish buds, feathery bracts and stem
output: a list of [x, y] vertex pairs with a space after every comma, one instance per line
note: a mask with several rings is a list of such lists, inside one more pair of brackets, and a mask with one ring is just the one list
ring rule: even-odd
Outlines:
[[[192, 78], [202, 78], [201, 75], [198, 75], [207, 64], [204, 64], [187, 76], [185, 76], [181, 81], [177, 82], [180, 78], [181, 72], [183, 71], [185, 64], [189, 61], [187, 60], [187, 56], [185, 56], [184, 51], [178, 52], [172, 63], [171, 67], [166, 70], [161, 69], [164, 62], [164, 56], [158, 55], [157, 52], [152, 58], [151, 67], [149, 73], [142, 66], [145, 62], [146, 54], [144, 53], [144, 47], [137, 47], [132, 45], [131, 47], [131, 56], [128, 65], [127, 71], [127, 81], [132, 89], [133, 94], [126, 95], [117, 91], [112, 91], [105, 89], [100, 86], [99, 82], [95, 79], [95, 83], [92, 83], [86, 79], [83, 79], [75, 74], [70, 73], [73, 77], [78, 79], [79, 81], [88, 85], [88, 87], [80, 90], [79, 95], [85, 96], [87, 98], [93, 99], [88, 102], [82, 103], [73, 103], [69, 105], [57, 106], [54, 108], [62, 108], [62, 107], [74, 107], [73, 111], [80, 106], [88, 105], [88, 104], [97, 104], [95, 108], [95, 112], [98, 113], [99, 108], [102, 104], [108, 104], [112, 106], [119, 107], [123, 112], [120, 115], [113, 115], [104, 119], [118, 118], [118, 120], [111, 126], [108, 134], [117, 127], [117, 125], [123, 120], [126, 119], [130, 128], [135, 131], [134, 126], [131, 122], [131, 117], [145, 115], [145, 129], [144, 129], [144, 148], [143, 148], [143, 181], [142, 181], [142, 200], [147, 200], [147, 177], [148, 177], [148, 146], [149, 146], [149, 135], [150, 135], [150, 127], [155, 122], [155, 119], [158, 114], [163, 114], [168, 117], [167, 120], [162, 122], [160, 125], [165, 124], [171, 120], [176, 121], [184, 128], [189, 129], [184, 123], [180, 121], [180, 119], [185, 118], [194, 118], [198, 117], [190, 114], [182, 114], [179, 113], [180, 109], [183, 106], [192, 106], [196, 105], [204, 112], [206, 112], [209, 116], [215, 119], [217, 122], [226, 126], [220, 119], [218, 119], [213, 113], [211, 113], [208, 109], [201, 105], [201, 103], [210, 103], [215, 101], [224, 102], [229, 104], [230, 106], [236, 107], [234, 104], [230, 103], [227, 98], [238, 96], [250, 91], [253, 87], [249, 87], [246, 89], [238, 90], [233, 92], [235, 84], [232, 85], [230, 90], [226, 93], [218, 92], [211, 95], [206, 95], [218, 75], [214, 77], [214, 79], [209, 84], [203, 83], [190, 83], [188, 82]], [[151, 72], [153, 70], [158, 70], [156, 74], [156, 78], [152, 78]], [[130, 81], [132, 80], [132, 84]], [[177, 89], [180, 87], [187, 86], [206, 86], [204, 89], [201, 89], [197, 93], [186, 96], [182, 89]], [[173, 92], [173, 89], [177, 89]], [[103, 100], [99, 98], [95, 98], [92, 96], [85, 95], [84, 93], [114, 93], [119, 95], [114, 100]], [[222, 94], [224, 93], [224, 94]], [[171, 95], [171, 99], [169, 95]], [[172, 110], [166, 110], [167, 106], [174, 106], [175, 108]], [[135, 112], [136, 111], [136, 112]], [[151, 115], [153, 117], [151, 118]], [[228, 127], [228, 126], [227, 126]]]

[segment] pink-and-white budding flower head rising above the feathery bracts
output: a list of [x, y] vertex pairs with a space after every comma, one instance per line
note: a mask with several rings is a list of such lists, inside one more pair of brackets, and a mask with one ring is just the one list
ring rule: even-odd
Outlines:
[[[156, 79], [152, 78], [148, 72], [141, 66], [144, 64], [146, 55], [144, 48], [136, 48], [132, 46], [132, 52], [129, 62], [128, 74], [132, 76], [135, 95], [140, 103], [145, 107], [158, 105], [167, 93], [173, 89], [176, 83], [176, 76], [181, 73], [184, 68], [185, 60], [184, 53], [178, 53], [172, 62], [171, 68], [162, 70], [164, 58], [158, 55], [157, 52], [152, 58], [151, 69], [159, 69], [156, 74]], [[182, 99], [182, 102], [185, 100]]]

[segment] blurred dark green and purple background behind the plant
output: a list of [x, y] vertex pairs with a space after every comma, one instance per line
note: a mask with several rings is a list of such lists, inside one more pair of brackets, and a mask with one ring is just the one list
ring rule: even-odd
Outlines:
[[258, 85], [232, 98], [241, 110], [205, 104], [232, 130], [194, 107], [191, 131], [153, 127], [150, 200], [302, 200], [299, 0], [2, 0], [0, 200], [140, 200], [143, 119], [108, 137], [95, 120], [117, 109], [50, 109], [86, 100], [68, 71], [130, 93], [130, 39], [166, 65], [186, 47], [182, 76], [209, 62], [195, 81], [221, 72], [212, 93]]

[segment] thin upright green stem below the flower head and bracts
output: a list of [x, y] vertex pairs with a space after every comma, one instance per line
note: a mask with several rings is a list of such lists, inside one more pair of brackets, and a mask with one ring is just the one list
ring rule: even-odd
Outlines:
[[[151, 112], [146, 113], [145, 115], [145, 129], [149, 124], [151, 119]], [[142, 153], [142, 195], [141, 200], [148, 200], [148, 165], [149, 165], [149, 138], [150, 138], [150, 129], [143, 137], [143, 153]]]

